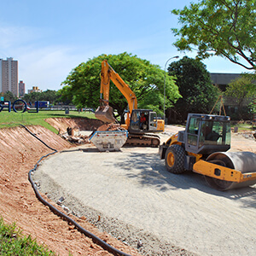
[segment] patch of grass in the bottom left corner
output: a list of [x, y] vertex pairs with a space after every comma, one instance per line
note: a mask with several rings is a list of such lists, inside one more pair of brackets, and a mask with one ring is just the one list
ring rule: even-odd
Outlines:
[[0, 255], [55, 255], [44, 246], [39, 246], [31, 236], [22, 236], [21, 230], [17, 230], [15, 224], [4, 224], [0, 218]]

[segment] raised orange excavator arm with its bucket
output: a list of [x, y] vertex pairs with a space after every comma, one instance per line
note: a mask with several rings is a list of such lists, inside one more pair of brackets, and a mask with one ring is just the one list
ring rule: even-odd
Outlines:
[[[126, 101], [129, 106], [129, 113], [125, 120], [126, 125], [130, 124], [130, 116], [133, 109], [137, 109], [137, 97], [135, 93], [131, 90], [128, 84], [125, 84], [125, 81], [120, 78], [119, 74], [113, 70], [108, 64], [108, 61], [102, 61], [102, 73], [101, 73], [101, 103], [102, 106], [96, 110], [96, 118], [101, 119], [104, 122], [112, 123], [114, 122], [113, 118], [113, 108], [109, 107], [109, 88], [110, 80], [115, 84], [119, 91], [125, 96]], [[102, 98], [103, 95], [103, 98]]]

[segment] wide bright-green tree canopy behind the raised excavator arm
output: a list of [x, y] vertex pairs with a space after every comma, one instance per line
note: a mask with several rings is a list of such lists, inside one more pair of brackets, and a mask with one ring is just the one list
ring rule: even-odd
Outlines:
[[[163, 114], [164, 76], [165, 72], [149, 61], [127, 53], [119, 55], [100, 55], [75, 67], [62, 83], [63, 96], [68, 96], [79, 108], [96, 108], [99, 106], [102, 61], [107, 60], [116, 73], [128, 84], [137, 96], [138, 108], [152, 108]], [[179, 98], [177, 85], [172, 77], [166, 76], [166, 108], [172, 107]], [[127, 108], [125, 97], [118, 88], [110, 83], [109, 105], [124, 113]]]

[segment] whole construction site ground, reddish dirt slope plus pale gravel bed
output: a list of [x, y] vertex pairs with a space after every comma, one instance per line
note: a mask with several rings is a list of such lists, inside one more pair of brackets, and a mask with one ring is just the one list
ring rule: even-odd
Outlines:
[[[76, 124], [49, 123], [61, 132]], [[29, 129], [59, 151], [32, 175], [41, 194], [113, 247], [131, 255], [254, 255], [256, 185], [220, 192], [194, 172], [166, 172], [158, 148], [100, 153], [92, 144], [73, 147], [44, 127]], [[161, 141], [181, 129], [166, 125]], [[60, 255], [110, 255], [34, 195], [27, 172], [52, 151], [22, 127], [0, 130], [0, 143], [3, 219]], [[255, 153], [256, 142], [233, 133], [231, 150]]]

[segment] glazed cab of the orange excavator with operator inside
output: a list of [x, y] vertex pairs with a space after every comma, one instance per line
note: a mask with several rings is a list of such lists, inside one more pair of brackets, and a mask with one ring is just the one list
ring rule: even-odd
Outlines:
[[156, 113], [152, 109], [133, 109], [128, 130], [137, 133], [157, 131]]

